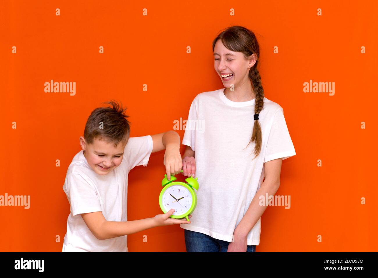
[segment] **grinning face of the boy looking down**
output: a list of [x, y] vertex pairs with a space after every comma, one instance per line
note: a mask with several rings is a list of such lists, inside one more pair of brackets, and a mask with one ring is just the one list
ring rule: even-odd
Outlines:
[[114, 147], [113, 142], [105, 142], [99, 137], [94, 139], [93, 144], [87, 144], [83, 136], [80, 137], [80, 145], [89, 166], [99, 175], [107, 175], [121, 164], [126, 146], [125, 143], [119, 142], [117, 147]]

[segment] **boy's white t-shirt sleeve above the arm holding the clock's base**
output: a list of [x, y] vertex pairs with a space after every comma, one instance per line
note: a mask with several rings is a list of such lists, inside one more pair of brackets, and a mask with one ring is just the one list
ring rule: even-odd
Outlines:
[[79, 173], [71, 173], [63, 187], [70, 200], [73, 216], [79, 213], [102, 211], [95, 187]]

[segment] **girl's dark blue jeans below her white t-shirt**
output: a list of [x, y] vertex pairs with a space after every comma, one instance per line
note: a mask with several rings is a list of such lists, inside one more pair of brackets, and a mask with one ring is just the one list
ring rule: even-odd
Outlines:
[[[227, 252], [230, 242], [204, 233], [184, 229], [186, 252]], [[256, 252], [256, 245], [247, 245], [247, 252]]]

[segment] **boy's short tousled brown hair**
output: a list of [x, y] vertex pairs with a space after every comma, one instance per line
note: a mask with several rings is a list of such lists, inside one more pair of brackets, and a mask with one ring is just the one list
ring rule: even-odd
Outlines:
[[114, 142], [114, 147], [119, 142], [126, 144], [130, 136], [130, 122], [127, 120], [129, 116], [124, 114], [127, 108], [123, 109], [122, 103], [119, 105], [115, 100], [103, 103], [108, 103], [111, 107], [98, 107], [92, 111], [85, 124], [85, 142], [93, 144], [99, 137], [99, 140]]

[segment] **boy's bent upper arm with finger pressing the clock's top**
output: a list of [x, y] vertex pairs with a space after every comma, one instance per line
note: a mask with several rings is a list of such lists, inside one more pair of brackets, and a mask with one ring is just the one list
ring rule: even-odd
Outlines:
[[170, 176], [180, 173], [182, 168], [180, 135], [173, 130], [169, 130], [164, 133], [151, 135], [151, 137], [153, 153], [166, 149], [164, 153], [164, 165], [166, 167], [167, 178], [170, 180]]

